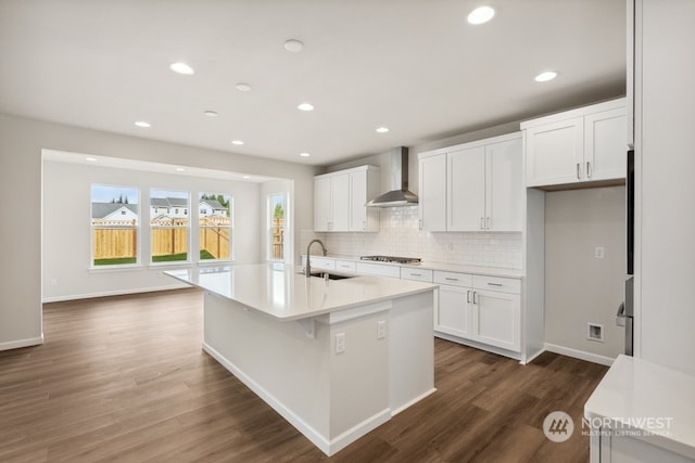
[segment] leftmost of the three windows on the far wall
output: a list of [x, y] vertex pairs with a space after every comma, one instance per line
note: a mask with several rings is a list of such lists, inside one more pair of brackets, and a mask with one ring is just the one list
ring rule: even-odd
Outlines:
[[91, 185], [91, 257], [94, 267], [138, 262], [140, 192]]

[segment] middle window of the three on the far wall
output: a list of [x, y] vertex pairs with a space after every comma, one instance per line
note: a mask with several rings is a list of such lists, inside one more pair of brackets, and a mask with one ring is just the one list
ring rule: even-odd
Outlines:
[[[150, 191], [150, 228], [152, 262], [188, 261], [189, 221], [188, 217], [172, 214], [172, 209], [188, 208], [189, 194], [186, 191]], [[162, 214], [161, 210], [165, 210]]]

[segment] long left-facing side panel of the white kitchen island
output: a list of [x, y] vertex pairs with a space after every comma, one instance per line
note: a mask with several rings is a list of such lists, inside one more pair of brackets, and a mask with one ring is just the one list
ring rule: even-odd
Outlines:
[[204, 313], [206, 350], [328, 452], [328, 326], [317, 323], [316, 337], [309, 338], [296, 322], [274, 320], [210, 294], [205, 294]]

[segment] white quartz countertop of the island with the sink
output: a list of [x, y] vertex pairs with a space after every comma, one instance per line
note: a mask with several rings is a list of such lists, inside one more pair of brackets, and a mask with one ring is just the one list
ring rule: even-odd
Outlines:
[[282, 321], [432, 291], [435, 284], [379, 276], [329, 280], [282, 263], [168, 270], [165, 274]]

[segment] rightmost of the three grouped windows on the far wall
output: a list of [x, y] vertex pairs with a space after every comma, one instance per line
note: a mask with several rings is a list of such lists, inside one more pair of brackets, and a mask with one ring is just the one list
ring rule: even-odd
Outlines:
[[199, 210], [200, 260], [231, 259], [231, 196], [201, 193]]

